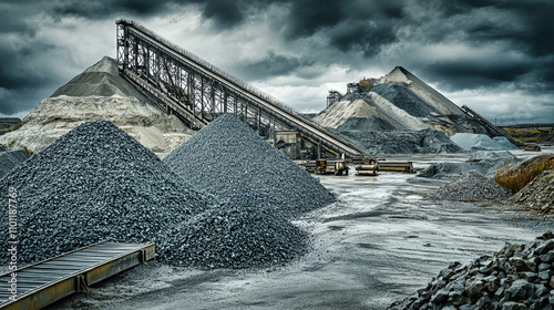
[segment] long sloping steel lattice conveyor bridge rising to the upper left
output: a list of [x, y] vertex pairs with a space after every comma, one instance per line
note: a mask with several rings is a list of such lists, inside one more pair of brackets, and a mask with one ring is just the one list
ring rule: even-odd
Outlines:
[[232, 113], [265, 137], [276, 131], [295, 131], [329, 155], [365, 155], [276, 99], [138, 23], [124, 19], [115, 23], [120, 74], [192, 128], [202, 128], [217, 115]]

